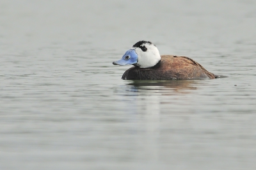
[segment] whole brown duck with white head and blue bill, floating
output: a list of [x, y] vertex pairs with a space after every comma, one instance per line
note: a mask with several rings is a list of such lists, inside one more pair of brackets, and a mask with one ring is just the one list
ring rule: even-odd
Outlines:
[[132, 45], [113, 65], [133, 65], [122, 75], [124, 80], [186, 80], [216, 79], [195, 60], [185, 56], [160, 55], [156, 45], [149, 41], [139, 41]]

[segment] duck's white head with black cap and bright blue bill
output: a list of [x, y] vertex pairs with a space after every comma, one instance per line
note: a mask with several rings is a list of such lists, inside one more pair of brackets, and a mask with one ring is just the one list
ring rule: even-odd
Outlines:
[[161, 60], [159, 51], [152, 42], [140, 41], [125, 52], [122, 59], [114, 61], [113, 65], [134, 65], [140, 68], [155, 66]]

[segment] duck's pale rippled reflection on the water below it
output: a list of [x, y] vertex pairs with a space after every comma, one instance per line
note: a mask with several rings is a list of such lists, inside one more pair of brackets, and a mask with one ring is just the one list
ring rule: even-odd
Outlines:
[[[130, 132], [136, 136], [136, 146], [148, 160], [159, 160], [161, 119], [168, 113], [188, 112], [177, 109], [177, 104], [188, 104], [186, 95], [195, 91], [202, 81], [125, 81], [118, 91], [121, 100], [118, 109], [125, 112], [125, 121], [132, 124]], [[120, 87], [120, 86], [119, 86]], [[180, 102], [182, 101], [182, 102]]]

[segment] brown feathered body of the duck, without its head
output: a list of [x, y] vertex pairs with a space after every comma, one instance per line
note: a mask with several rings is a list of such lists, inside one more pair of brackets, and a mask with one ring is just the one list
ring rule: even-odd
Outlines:
[[172, 79], [215, 79], [213, 73], [193, 59], [183, 56], [161, 56], [161, 61], [152, 68], [133, 66], [124, 72], [125, 80], [172, 80]]

